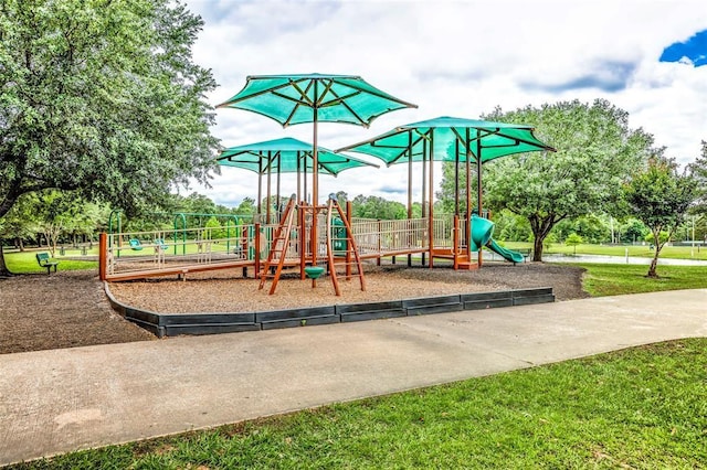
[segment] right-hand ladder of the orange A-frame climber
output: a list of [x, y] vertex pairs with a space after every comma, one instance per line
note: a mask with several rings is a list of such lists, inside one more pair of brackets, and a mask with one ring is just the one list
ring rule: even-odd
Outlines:
[[[342, 226], [333, 226], [333, 220], [336, 214], [338, 214], [341, 220]], [[347, 279], [358, 277], [361, 284], [361, 290], [366, 290], [366, 278], [363, 277], [361, 258], [356, 247], [354, 235], [351, 234], [351, 225], [344, 215], [344, 211], [341, 211], [338, 201], [333, 196], [329, 196], [327, 207], [327, 263], [334, 291], [337, 296], [341, 295], [336, 271], [337, 265], [344, 265]], [[352, 268], [355, 268], [355, 273]]]

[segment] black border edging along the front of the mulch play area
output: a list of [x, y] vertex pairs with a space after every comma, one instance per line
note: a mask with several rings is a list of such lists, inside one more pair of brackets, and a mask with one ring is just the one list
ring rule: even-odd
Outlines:
[[215, 334], [346, 323], [384, 318], [481, 310], [555, 302], [551, 287], [455, 293], [386, 302], [350, 303], [245, 313], [156, 313], [119, 302], [104, 281], [115, 311], [158, 338], [179, 334]]

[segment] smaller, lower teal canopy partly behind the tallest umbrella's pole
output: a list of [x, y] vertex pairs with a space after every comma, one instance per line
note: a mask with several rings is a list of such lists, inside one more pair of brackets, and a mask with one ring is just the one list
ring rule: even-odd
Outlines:
[[[344, 170], [377, 164], [355, 157], [337, 153], [323, 147], [318, 148], [318, 170], [336, 177]], [[231, 147], [221, 152], [217, 159], [224, 167], [236, 167], [254, 171], [258, 174], [271, 173], [309, 173], [313, 170], [312, 143], [289, 137], [263, 142]]]

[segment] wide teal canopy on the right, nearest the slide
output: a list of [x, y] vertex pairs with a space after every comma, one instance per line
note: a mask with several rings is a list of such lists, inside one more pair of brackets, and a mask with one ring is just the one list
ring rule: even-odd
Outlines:
[[[532, 133], [532, 127], [493, 122], [477, 119], [439, 117], [399, 126], [363, 142], [337, 151], [367, 153], [386, 164], [422, 161], [423, 157], [436, 161], [486, 162], [513, 153], [555, 151]], [[431, 149], [432, 146], [432, 149]], [[432, 151], [431, 151], [432, 150]]]

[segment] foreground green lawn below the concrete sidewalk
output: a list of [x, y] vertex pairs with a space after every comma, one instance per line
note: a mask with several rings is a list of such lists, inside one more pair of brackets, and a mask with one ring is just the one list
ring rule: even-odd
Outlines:
[[680, 340], [14, 468], [704, 468], [706, 381]]

